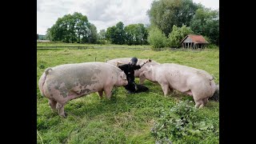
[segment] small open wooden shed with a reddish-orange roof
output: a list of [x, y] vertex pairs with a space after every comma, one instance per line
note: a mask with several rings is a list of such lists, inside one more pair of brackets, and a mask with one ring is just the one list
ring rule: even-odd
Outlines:
[[202, 35], [188, 34], [182, 39], [182, 48], [184, 49], [204, 49], [209, 42]]

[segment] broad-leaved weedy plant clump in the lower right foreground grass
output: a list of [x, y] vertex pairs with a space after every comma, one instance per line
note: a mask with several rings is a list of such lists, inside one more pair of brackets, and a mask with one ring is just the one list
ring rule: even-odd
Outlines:
[[212, 123], [206, 123], [198, 115], [192, 101], [179, 102], [169, 111], [163, 111], [151, 129], [156, 143], [194, 143], [202, 142], [214, 130]]

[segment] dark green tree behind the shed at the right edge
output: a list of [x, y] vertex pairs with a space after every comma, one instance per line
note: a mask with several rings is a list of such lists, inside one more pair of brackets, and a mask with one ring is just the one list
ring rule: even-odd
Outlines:
[[190, 21], [191, 30], [210, 38], [210, 42], [219, 44], [219, 11], [200, 8]]

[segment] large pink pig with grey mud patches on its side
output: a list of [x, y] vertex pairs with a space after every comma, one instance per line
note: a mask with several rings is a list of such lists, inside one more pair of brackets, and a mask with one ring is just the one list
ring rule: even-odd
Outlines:
[[126, 86], [126, 74], [106, 62], [84, 62], [47, 68], [39, 79], [38, 86], [43, 96], [49, 99], [50, 107], [66, 118], [66, 102], [86, 94], [103, 91], [110, 99], [114, 86]]

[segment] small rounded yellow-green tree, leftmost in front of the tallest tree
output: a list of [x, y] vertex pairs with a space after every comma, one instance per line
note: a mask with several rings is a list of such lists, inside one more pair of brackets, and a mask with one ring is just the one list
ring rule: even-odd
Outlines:
[[160, 50], [160, 48], [166, 46], [166, 35], [162, 33], [157, 27], [151, 27], [148, 36], [148, 42], [152, 46], [153, 50]]

